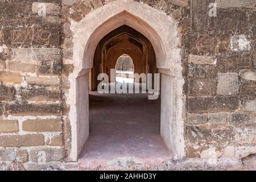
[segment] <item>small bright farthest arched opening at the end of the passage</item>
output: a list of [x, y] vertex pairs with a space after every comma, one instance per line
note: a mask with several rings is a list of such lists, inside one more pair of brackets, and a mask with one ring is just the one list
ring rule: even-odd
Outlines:
[[134, 82], [134, 64], [130, 56], [118, 57], [115, 65], [115, 81], [126, 84]]

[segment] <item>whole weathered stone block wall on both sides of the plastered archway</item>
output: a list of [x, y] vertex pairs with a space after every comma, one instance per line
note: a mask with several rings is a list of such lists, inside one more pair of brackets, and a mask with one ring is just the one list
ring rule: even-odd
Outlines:
[[[111, 1], [0, 0], [3, 169], [46, 169], [49, 164], [72, 167], [66, 104], [68, 76], [73, 72], [69, 27]], [[43, 16], [38, 13], [42, 2], [46, 5]], [[225, 159], [224, 163], [255, 157], [255, 0], [216, 0], [217, 16], [212, 17], [209, 5], [213, 0], [138, 2], [179, 22], [186, 97], [185, 156], [189, 161], [184, 165], [204, 166], [204, 159]], [[47, 164], [39, 165], [42, 151]], [[167, 169], [173, 169], [168, 164]]]

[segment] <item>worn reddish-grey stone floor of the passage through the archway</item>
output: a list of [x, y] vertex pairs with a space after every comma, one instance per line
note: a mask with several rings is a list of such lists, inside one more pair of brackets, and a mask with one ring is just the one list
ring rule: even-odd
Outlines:
[[82, 168], [150, 169], [169, 156], [160, 136], [160, 100], [90, 92], [90, 136], [80, 154]]

